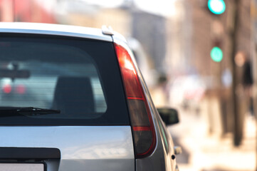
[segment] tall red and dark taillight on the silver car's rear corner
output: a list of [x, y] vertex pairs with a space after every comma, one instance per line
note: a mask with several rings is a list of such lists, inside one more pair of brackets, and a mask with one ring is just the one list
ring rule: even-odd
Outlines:
[[152, 154], [156, 145], [150, 108], [129, 53], [125, 48], [116, 43], [115, 51], [125, 86], [128, 108], [130, 110], [135, 155], [137, 158], [147, 157]]

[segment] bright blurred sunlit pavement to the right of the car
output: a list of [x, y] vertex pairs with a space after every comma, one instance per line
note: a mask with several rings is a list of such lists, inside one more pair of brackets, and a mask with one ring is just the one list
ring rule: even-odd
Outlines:
[[256, 167], [256, 121], [246, 118], [242, 145], [233, 146], [232, 135], [219, 138], [208, 135], [203, 118], [193, 113], [179, 113], [180, 123], [170, 126], [174, 144], [182, 146], [177, 156], [179, 170], [250, 171]]

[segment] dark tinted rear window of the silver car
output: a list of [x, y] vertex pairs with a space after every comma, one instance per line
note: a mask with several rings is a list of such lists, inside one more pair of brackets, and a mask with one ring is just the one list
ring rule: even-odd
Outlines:
[[[18, 33], [0, 38], [0, 125], [128, 125], [123, 92], [111, 42]], [[1, 111], [9, 107], [61, 113]]]

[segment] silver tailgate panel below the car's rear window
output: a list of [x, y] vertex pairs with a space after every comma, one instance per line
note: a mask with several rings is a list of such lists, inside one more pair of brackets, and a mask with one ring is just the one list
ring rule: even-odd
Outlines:
[[130, 126], [1, 126], [0, 140], [0, 147], [58, 148], [60, 171], [135, 170]]

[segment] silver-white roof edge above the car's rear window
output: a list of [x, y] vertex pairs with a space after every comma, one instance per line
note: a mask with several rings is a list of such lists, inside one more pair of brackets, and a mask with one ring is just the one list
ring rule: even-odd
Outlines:
[[68, 26], [62, 24], [0, 22], [0, 33], [36, 33], [112, 41], [112, 36], [103, 34], [103, 31], [100, 28]]

